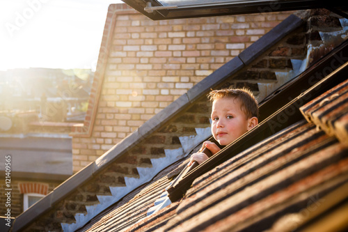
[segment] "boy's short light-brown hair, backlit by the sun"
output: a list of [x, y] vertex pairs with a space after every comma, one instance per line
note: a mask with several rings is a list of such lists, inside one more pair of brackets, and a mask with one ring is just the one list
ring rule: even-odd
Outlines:
[[248, 88], [223, 88], [211, 91], [207, 97], [210, 102], [214, 102], [214, 100], [220, 98], [237, 99], [240, 102], [241, 110], [246, 115], [246, 118], [258, 118], [259, 116], [258, 102]]

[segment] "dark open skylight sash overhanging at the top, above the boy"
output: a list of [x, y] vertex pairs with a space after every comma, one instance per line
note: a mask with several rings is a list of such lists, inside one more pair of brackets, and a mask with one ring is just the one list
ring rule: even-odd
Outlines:
[[[326, 8], [319, 0], [122, 0], [152, 20]], [[337, 0], [330, 7], [342, 6]]]

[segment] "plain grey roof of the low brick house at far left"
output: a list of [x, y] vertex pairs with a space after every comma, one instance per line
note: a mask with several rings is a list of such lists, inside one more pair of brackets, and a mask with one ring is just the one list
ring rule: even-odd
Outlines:
[[69, 137], [1, 137], [2, 162], [11, 155], [13, 178], [66, 180], [72, 175], [72, 146]]

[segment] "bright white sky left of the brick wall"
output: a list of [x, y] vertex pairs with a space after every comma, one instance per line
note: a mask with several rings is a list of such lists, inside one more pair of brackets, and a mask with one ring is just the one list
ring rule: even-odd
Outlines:
[[120, 0], [0, 0], [0, 71], [95, 70], [106, 13]]

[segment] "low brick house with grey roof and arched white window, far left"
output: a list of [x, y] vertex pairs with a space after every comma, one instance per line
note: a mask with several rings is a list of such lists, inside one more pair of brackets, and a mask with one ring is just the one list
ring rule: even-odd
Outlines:
[[1, 216], [14, 219], [69, 178], [71, 149], [68, 134], [1, 134], [0, 210], [10, 209], [10, 214]]

